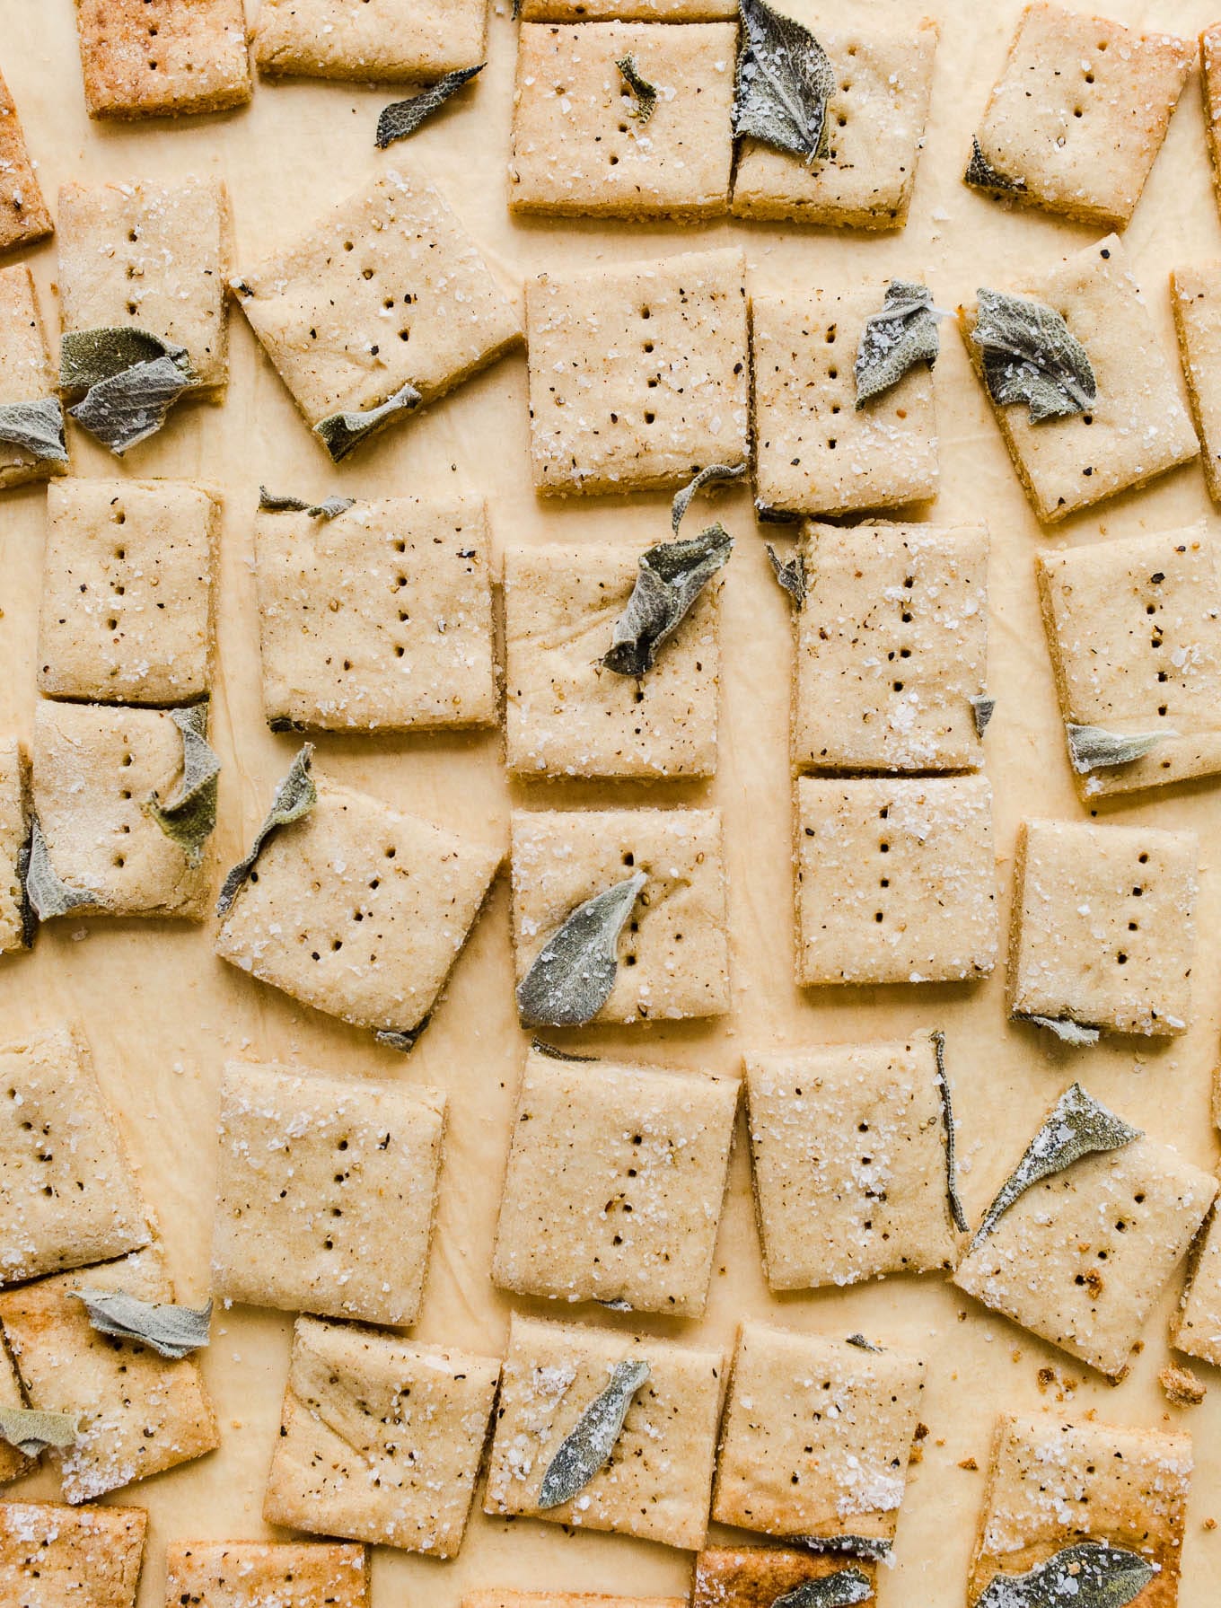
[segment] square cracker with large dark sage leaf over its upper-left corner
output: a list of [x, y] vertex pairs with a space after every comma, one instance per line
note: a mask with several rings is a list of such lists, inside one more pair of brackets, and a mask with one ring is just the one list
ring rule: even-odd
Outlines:
[[856, 29], [840, 16], [838, 26], [822, 27], [822, 0], [787, 0], [782, 10], [812, 27], [830, 58], [830, 148], [825, 159], [806, 162], [761, 140], [743, 140], [730, 211], [735, 217], [902, 228], [933, 93], [938, 24], [925, 16], [904, 29]]

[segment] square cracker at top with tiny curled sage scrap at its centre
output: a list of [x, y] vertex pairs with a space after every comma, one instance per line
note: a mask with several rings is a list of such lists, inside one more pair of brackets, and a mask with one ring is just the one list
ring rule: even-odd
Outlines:
[[[713, 217], [729, 209], [732, 23], [523, 23], [508, 204], [558, 217]], [[618, 63], [656, 88], [647, 122]]]

